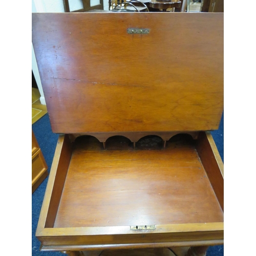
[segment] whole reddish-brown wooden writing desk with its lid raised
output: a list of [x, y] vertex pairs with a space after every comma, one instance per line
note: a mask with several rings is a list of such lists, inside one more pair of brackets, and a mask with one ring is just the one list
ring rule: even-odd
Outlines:
[[203, 255], [222, 244], [223, 163], [209, 131], [223, 111], [223, 14], [32, 17], [61, 134], [36, 231], [41, 250], [192, 246], [188, 255]]

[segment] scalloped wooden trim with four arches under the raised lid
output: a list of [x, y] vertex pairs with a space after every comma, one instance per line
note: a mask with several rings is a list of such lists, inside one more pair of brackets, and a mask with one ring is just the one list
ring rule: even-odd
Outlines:
[[124, 136], [127, 139], [130, 139], [131, 142], [137, 142], [139, 139], [148, 136], [148, 135], [155, 135], [159, 136], [163, 139], [163, 141], [167, 141], [173, 136], [177, 134], [189, 134], [192, 136], [193, 139], [198, 138], [199, 132], [188, 132], [188, 131], [172, 131], [172, 132], [114, 132], [114, 133], [76, 133], [76, 134], [69, 134], [71, 141], [74, 141], [79, 136], [90, 135], [97, 138], [100, 142], [105, 142], [108, 138], [112, 136]]

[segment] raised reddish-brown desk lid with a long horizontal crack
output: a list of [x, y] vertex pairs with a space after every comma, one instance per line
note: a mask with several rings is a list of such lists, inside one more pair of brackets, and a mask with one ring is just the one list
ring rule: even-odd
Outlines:
[[32, 41], [55, 133], [218, 129], [223, 13], [33, 13]]

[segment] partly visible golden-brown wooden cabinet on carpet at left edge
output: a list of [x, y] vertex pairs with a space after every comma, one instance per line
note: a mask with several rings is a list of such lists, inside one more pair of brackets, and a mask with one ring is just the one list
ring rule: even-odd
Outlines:
[[47, 164], [32, 131], [32, 193], [48, 176]]

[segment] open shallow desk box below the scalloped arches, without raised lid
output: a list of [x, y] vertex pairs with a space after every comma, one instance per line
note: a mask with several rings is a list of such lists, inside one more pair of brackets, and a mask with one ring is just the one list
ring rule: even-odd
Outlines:
[[[223, 243], [223, 163], [209, 132], [60, 135], [36, 237], [42, 250]], [[165, 147], [164, 147], [165, 146]]]

